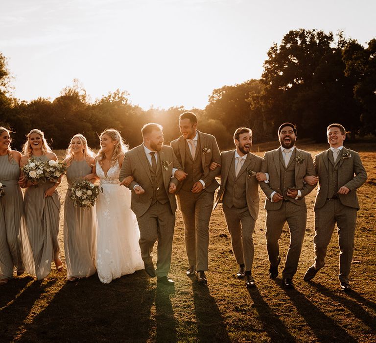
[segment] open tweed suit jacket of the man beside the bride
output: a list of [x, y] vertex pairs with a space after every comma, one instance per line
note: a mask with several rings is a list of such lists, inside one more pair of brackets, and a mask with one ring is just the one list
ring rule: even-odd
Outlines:
[[[164, 189], [166, 190], [172, 213], [174, 213], [176, 211], [176, 199], [174, 194], [168, 193], [168, 188], [170, 182], [174, 182], [175, 185], [178, 184], [176, 178], [171, 179], [172, 168], [181, 169], [181, 166], [171, 147], [162, 146], [162, 150], [158, 154], [157, 163], [162, 168]], [[132, 191], [131, 209], [139, 217], [149, 209], [153, 198], [153, 184], [149, 165], [143, 144], [141, 144], [124, 154], [124, 161], [119, 174], [120, 182], [129, 175], [134, 177], [134, 181], [129, 185], [129, 189]], [[137, 195], [133, 190], [135, 185], [140, 185], [145, 190], [145, 193]]]

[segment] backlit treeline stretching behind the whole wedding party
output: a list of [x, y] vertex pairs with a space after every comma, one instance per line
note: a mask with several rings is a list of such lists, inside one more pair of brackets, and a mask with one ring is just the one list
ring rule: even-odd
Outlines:
[[[376, 135], [376, 39], [367, 47], [343, 34], [319, 30], [293, 30], [273, 44], [259, 80], [213, 90], [205, 109], [192, 109], [199, 129], [216, 136], [221, 148], [232, 146], [239, 126], [251, 127], [256, 142], [276, 138], [285, 121], [298, 125], [300, 138], [325, 140], [329, 123], [340, 122], [355, 135]], [[82, 133], [92, 147], [97, 134], [114, 127], [134, 147], [141, 142], [144, 123], [164, 126], [167, 142], [179, 136], [178, 117], [187, 109], [143, 110], [129, 94], [117, 90], [90, 102], [78, 80], [53, 101], [31, 102], [12, 98], [6, 59], [0, 53], [0, 125], [15, 132], [19, 148], [29, 129], [45, 131], [55, 149], [66, 148], [75, 133]]]

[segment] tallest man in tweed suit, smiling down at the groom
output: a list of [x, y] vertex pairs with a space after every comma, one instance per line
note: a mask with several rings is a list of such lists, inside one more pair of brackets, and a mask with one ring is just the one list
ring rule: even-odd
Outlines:
[[185, 243], [188, 255], [188, 276], [197, 270], [197, 282], [206, 284], [208, 270], [209, 221], [213, 208], [214, 191], [219, 187], [215, 176], [219, 168], [210, 170], [212, 162], [220, 163], [220, 151], [215, 137], [197, 130], [197, 117], [185, 112], [179, 117], [182, 134], [171, 142], [179, 163], [187, 172], [179, 184], [176, 195], [185, 226]]

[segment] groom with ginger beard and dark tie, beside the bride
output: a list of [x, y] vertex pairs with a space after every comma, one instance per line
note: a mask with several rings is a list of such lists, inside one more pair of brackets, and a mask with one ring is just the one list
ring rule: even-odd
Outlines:
[[[178, 181], [171, 175], [173, 168], [181, 167], [172, 148], [163, 145], [162, 129], [156, 123], [142, 127], [143, 144], [125, 153], [119, 180], [122, 182], [130, 175], [134, 178], [128, 187], [132, 191], [131, 209], [139, 223], [139, 244], [146, 273], [157, 276], [158, 283], [173, 286], [174, 281], [167, 274], [175, 226], [173, 193]], [[152, 251], [157, 240], [157, 269], [154, 269]]]

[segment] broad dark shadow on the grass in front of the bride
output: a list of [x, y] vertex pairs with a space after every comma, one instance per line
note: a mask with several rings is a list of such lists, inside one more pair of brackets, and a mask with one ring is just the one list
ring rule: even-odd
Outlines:
[[97, 275], [66, 283], [26, 325], [22, 341], [146, 342], [155, 292], [144, 271], [108, 285]]

